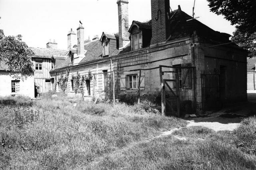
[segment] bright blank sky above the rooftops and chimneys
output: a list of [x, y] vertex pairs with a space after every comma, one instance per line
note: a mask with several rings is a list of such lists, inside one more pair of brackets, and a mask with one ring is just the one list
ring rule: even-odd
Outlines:
[[[102, 32], [118, 32], [117, 0], [0, 0], [0, 29], [6, 36], [21, 34], [31, 47], [45, 48], [55, 40], [67, 49], [67, 33], [83, 23], [85, 40]], [[194, 0], [170, 0], [172, 10], [181, 6], [192, 16]], [[208, 27], [232, 35], [235, 26], [208, 7], [207, 0], [196, 0], [195, 17]], [[133, 20], [151, 19], [150, 0], [129, 0], [129, 25]]]

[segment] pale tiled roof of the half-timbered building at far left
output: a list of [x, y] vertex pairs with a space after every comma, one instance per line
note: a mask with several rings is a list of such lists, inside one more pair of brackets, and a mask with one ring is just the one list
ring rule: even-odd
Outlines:
[[52, 55], [64, 56], [68, 52], [68, 50], [55, 49], [55, 48], [34, 48], [29, 47], [35, 55], [32, 57], [45, 57], [51, 58]]

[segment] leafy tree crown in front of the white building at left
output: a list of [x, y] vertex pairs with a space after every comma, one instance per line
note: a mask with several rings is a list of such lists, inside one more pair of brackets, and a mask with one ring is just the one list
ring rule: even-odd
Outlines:
[[27, 77], [34, 72], [31, 62], [34, 53], [21, 38], [21, 35], [6, 37], [0, 30], [0, 63], [7, 64], [16, 78]]

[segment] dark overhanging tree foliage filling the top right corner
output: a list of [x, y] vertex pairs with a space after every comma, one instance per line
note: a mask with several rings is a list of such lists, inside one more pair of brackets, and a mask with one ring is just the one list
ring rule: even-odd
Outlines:
[[224, 15], [232, 25], [248, 34], [256, 32], [255, 0], [207, 0], [212, 12]]

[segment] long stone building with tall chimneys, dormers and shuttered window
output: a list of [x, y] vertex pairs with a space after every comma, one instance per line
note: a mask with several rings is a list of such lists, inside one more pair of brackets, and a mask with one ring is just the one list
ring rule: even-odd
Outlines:
[[[117, 1], [115, 34], [103, 32], [100, 40], [84, 44], [82, 25], [77, 35], [68, 33], [68, 57], [50, 71], [57, 86], [64, 75], [65, 91], [74, 94], [79, 73], [85, 77], [80, 85], [85, 97], [109, 98], [111, 83], [115, 98], [162, 92], [166, 113], [214, 109], [247, 99], [247, 53], [229, 40], [230, 35], [193, 19], [180, 6], [170, 12], [169, 0], [151, 0], [152, 19], [133, 21], [129, 27], [128, 4]], [[112, 71], [114, 82], [109, 81]]]

